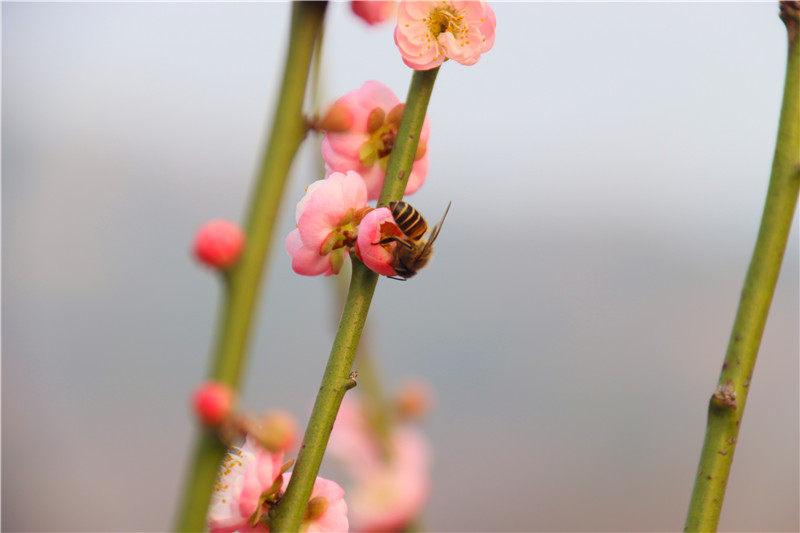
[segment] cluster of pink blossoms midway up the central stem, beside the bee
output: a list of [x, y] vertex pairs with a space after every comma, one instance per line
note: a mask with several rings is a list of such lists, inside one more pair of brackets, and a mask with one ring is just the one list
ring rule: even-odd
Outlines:
[[[368, 201], [380, 196], [403, 104], [391, 89], [368, 81], [338, 99], [322, 124], [326, 177], [306, 188], [295, 210], [296, 228], [286, 237], [292, 269], [305, 276], [338, 274], [350, 253], [367, 267], [395, 276], [396, 242], [380, 241], [401, 232], [387, 208]], [[426, 118], [406, 185], [413, 194], [428, 172], [430, 122]]]

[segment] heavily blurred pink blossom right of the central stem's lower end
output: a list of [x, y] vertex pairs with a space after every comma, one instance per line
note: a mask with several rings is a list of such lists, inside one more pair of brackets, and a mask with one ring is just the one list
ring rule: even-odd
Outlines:
[[386, 460], [363, 404], [350, 394], [339, 410], [328, 450], [353, 477], [348, 495], [353, 530], [401, 530], [420, 514], [428, 498], [430, 448], [416, 428], [395, 425]]

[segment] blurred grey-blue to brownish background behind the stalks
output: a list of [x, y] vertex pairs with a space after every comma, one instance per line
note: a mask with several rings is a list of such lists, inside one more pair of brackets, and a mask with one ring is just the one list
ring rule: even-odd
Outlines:
[[[496, 3], [429, 116], [437, 255], [382, 279], [388, 386], [436, 403], [433, 531], [679, 531], [763, 207], [786, 60], [776, 2]], [[241, 220], [287, 3], [2, 4], [2, 529], [172, 527], [220, 297], [189, 249]], [[323, 92], [405, 98], [391, 23], [329, 6]], [[246, 408], [303, 424], [336, 315], [283, 238]], [[797, 220], [720, 528], [797, 531]], [[329, 468], [324, 464], [323, 468]]]

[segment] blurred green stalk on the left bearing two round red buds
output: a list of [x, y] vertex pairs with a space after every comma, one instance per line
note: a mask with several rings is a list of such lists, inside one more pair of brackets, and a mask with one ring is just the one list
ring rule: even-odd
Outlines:
[[[264, 264], [283, 188], [294, 154], [306, 134], [302, 114], [314, 41], [322, 27], [325, 2], [295, 2], [283, 85], [272, 131], [261, 161], [247, 216], [247, 244], [236, 267], [226, 273], [225, 295], [210, 379], [238, 388], [245, 363]], [[211, 492], [226, 446], [216, 433], [202, 429], [184, 489], [176, 529], [202, 531]]]

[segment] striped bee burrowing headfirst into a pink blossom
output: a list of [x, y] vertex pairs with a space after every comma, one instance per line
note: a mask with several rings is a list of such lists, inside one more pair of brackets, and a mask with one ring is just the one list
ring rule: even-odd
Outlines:
[[392, 212], [394, 221], [402, 235], [387, 237], [375, 244], [387, 244], [396, 242], [394, 248], [394, 271], [398, 277], [393, 279], [407, 280], [417, 274], [417, 271], [428, 264], [433, 254], [433, 242], [439, 236], [442, 229], [444, 217], [450, 211], [450, 204], [444, 210], [441, 220], [433, 225], [427, 238], [428, 223], [419, 211], [411, 207], [406, 202], [389, 202], [389, 210]]

